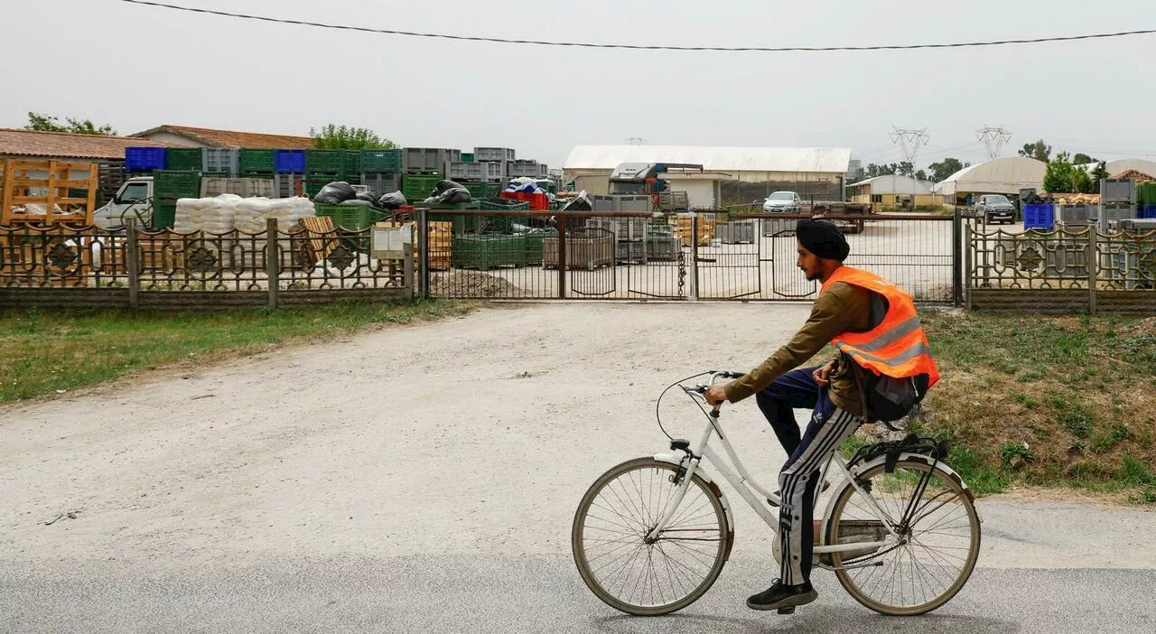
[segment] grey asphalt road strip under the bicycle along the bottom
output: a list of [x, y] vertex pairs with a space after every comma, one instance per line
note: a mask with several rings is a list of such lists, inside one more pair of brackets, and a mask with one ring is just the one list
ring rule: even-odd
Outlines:
[[818, 573], [820, 598], [793, 615], [743, 604], [769, 583], [732, 560], [710, 592], [668, 617], [621, 614], [583, 585], [569, 556], [414, 555], [268, 559], [212, 568], [116, 562], [0, 572], [3, 632], [1135, 632], [1156, 631], [1153, 570], [980, 568], [948, 605], [882, 617]]

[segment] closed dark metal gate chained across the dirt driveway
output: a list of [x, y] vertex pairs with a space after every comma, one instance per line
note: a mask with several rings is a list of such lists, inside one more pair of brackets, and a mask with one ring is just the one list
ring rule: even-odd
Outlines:
[[[421, 279], [436, 297], [812, 301], [818, 285], [795, 266], [802, 218], [810, 216], [418, 212]], [[849, 265], [917, 301], [963, 302], [966, 219], [825, 218], [852, 230]]]

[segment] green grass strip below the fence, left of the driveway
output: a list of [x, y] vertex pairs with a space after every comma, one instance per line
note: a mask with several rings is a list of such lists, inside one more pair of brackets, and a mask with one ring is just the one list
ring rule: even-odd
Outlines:
[[55, 395], [160, 366], [240, 356], [375, 324], [462, 315], [475, 305], [427, 300], [206, 314], [0, 311], [0, 401]]

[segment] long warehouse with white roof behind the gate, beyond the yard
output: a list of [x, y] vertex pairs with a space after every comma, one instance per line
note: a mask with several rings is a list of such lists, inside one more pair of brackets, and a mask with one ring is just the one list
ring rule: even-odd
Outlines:
[[691, 208], [762, 204], [776, 191], [805, 200], [843, 200], [851, 150], [703, 146], [578, 146], [566, 157], [564, 178], [577, 190], [608, 193], [621, 163], [692, 163], [703, 170], [673, 170], [669, 190], [686, 191]]

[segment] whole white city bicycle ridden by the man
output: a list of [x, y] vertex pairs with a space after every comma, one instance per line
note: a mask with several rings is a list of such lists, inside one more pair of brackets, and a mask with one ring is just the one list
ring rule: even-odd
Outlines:
[[[726, 496], [703, 469], [704, 458], [778, 532], [779, 496], [751, 478], [722, 430], [718, 408], [705, 407], [710, 384], [741, 375], [697, 376], [706, 375], [706, 385], [675, 384], [706, 414], [697, 441], [672, 438], [668, 452], [614, 466], [594, 481], [575, 514], [571, 547], [578, 572], [598, 598], [622, 612], [682, 610], [722, 572], [734, 545], [734, 521]], [[734, 469], [710, 445], [713, 438]], [[958, 594], [976, 567], [980, 521], [975, 496], [943, 464], [946, 454], [944, 443], [909, 435], [864, 447], [850, 460], [836, 451], [822, 469], [818, 481], [827, 481], [832, 465], [843, 481], [815, 521], [815, 566], [833, 570], [855, 600], [876, 612], [931, 612]], [[772, 541], [780, 560], [779, 540]]]

